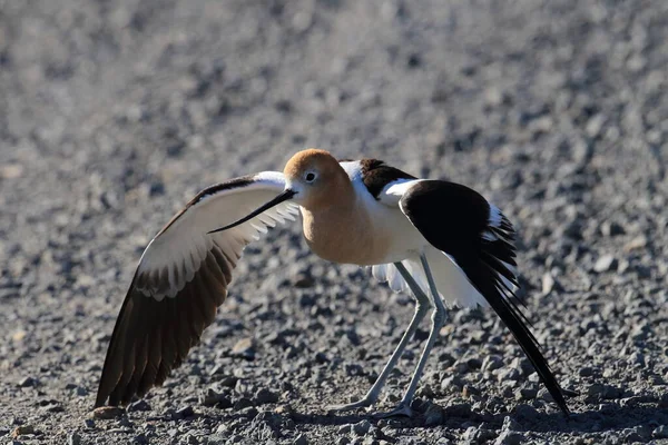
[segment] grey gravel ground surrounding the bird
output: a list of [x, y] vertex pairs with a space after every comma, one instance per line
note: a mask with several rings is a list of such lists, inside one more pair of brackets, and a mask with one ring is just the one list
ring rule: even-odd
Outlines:
[[[0, 437], [668, 443], [667, 61], [662, 1], [0, 0]], [[246, 250], [165, 387], [90, 417], [150, 237], [197, 190], [307, 146], [503, 209], [537, 337], [579, 393], [570, 421], [480, 309], [451, 310], [418, 417], [327, 415], [413, 304], [310, 254], [296, 225]]]

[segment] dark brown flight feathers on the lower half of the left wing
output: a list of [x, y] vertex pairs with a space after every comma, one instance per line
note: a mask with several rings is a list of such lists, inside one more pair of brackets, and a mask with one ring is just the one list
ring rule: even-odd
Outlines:
[[96, 406], [107, 402], [127, 404], [135, 395], [144, 395], [165, 382], [214, 322], [217, 307], [227, 295], [232, 268], [228, 258], [215, 247], [194, 279], [175, 297], [160, 301], [144, 295], [136, 284], [150, 287], [159, 280], [164, 283], [167, 269], [136, 277], [111, 336]]

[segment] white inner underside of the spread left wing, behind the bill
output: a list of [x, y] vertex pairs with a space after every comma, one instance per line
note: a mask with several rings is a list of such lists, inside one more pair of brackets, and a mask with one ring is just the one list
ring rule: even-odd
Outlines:
[[137, 269], [137, 289], [158, 301], [174, 298], [193, 280], [212, 249], [234, 268], [246, 245], [266, 234], [267, 227], [295, 220], [298, 205], [282, 202], [229, 230], [208, 231], [248, 215], [283, 191], [284, 184], [282, 174], [263, 172], [250, 185], [204, 196], [186, 208], [147, 246]]

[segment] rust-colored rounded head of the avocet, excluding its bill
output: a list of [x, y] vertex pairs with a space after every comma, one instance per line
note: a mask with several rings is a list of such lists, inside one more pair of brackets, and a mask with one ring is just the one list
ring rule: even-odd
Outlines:
[[328, 151], [310, 148], [294, 155], [283, 170], [294, 199], [307, 209], [326, 207], [352, 189], [350, 179]]

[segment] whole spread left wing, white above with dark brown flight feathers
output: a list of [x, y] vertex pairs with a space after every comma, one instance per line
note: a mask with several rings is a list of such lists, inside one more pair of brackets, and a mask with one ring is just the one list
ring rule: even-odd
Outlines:
[[281, 205], [225, 231], [285, 188], [281, 172], [232, 179], [200, 191], [148, 244], [116, 320], [96, 406], [127, 404], [161, 385], [216, 316], [244, 247], [267, 227], [294, 220]]

